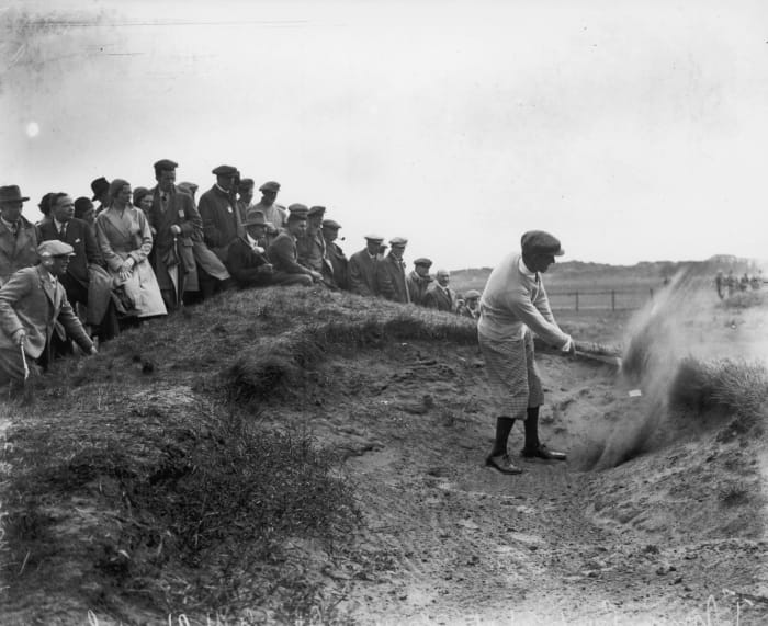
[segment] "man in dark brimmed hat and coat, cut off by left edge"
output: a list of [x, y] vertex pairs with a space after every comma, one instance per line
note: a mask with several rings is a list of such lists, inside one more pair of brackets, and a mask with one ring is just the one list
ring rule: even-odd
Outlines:
[[0, 286], [18, 270], [37, 262], [37, 232], [21, 214], [29, 200], [18, 185], [0, 186]]

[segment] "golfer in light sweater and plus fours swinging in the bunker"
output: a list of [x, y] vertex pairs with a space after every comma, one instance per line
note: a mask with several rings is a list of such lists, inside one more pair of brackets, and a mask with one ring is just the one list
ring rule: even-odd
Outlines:
[[560, 241], [542, 230], [526, 232], [522, 254], [501, 260], [481, 298], [477, 327], [496, 417], [496, 437], [486, 465], [502, 474], [520, 474], [507, 454], [515, 420], [526, 426], [523, 458], [564, 460], [565, 454], [539, 441], [539, 407], [544, 394], [533, 358], [535, 332], [546, 343], [573, 353], [573, 339], [555, 322], [541, 275], [564, 254]]

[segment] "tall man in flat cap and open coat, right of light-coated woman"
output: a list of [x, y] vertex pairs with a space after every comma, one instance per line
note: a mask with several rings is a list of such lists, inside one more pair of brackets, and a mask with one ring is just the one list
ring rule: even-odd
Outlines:
[[176, 186], [179, 164], [161, 159], [154, 167], [157, 185], [150, 190], [153, 204], [147, 214], [155, 231], [150, 260], [170, 312], [182, 306], [188, 285], [197, 285], [193, 241], [203, 238], [203, 220], [192, 196]]

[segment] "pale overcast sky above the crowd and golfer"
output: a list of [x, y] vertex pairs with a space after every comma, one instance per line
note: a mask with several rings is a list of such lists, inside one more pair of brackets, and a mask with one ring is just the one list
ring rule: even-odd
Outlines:
[[768, 259], [768, 3], [0, 0], [0, 184], [236, 166], [347, 254]]

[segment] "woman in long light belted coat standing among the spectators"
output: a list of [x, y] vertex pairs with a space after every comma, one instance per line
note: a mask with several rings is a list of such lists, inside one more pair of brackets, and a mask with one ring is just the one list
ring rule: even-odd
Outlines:
[[166, 315], [160, 287], [147, 257], [153, 235], [144, 213], [131, 204], [131, 183], [115, 179], [110, 184], [110, 205], [97, 217], [97, 241], [123, 291], [125, 314], [137, 318]]

